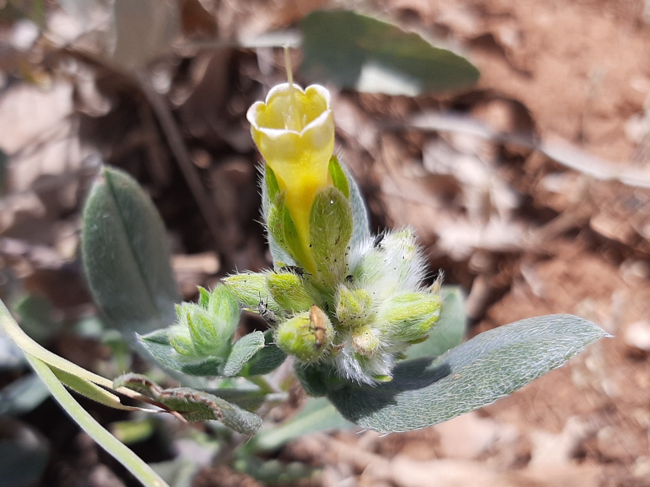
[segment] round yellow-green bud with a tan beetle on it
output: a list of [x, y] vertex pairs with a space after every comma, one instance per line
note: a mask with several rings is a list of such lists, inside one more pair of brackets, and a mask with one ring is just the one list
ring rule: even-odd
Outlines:
[[322, 309], [313, 305], [279, 324], [276, 344], [300, 362], [316, 362], [330, 348], [334, 330]]

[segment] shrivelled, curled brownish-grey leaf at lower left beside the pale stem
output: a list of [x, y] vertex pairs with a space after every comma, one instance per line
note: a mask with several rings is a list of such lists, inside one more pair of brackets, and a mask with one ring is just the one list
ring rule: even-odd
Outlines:
[[205, 391], [190, 388], [162, 389], [144, 375], [127, 374], [116, 378], [114, 388], [126, 387], [153, 399], [170, 411], [177, 412], [187, 421], [216, 419], [227, 428], [252, 436], [262, 425], [257, 414], [244, 411], [239, 406]]

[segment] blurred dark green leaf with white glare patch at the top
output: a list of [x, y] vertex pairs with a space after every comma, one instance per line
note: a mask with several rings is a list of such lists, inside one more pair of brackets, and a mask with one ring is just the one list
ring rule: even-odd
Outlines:
[[300, 28], [302, 70], [343, 88], [415, 96], [469, 88], [478, 80], [467, 59], [355, 12], [311, 12]]

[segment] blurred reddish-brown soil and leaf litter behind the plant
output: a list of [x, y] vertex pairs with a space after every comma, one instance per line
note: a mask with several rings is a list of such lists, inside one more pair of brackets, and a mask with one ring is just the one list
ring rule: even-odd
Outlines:
[[[337, 151], [372, 230], [415, 228], [432, 271], [467, 291], [471, 335], [573, 313], [614, 338], [448, 423], [317, 434], [274, 455], [322, 468], [304, 486], [650, 486], [650, 3], [178, 0], [177, 18], [131, 6], [117, 23], [93, 7], [101, 1], [76, 12], [0, 5], [0, 291], [43, 296], [75, 323], [40, 330], [48, 348], [123, 372], [79, 332], [94, 311], [80, 212], [100, 161], [153, 198], [186, 299], [227, 272], [271, 265], [245, 112], [285, 74], [281, 49], [241, 46], [316, 8], [356, 8], [481, 72], [474, 88], [438, 96], [329, 86]], [[299, 50], [292, 57], [298, 83], [317, 81], [301, 77]], [[0, 386], [23, 373], [3, 366]], [[82, 404], [103, 424], [128, 417]], [[51, 399], [3, 421], [3, 438], [22, 427], [49, 445], [38, 485], [137, 485]], [[134, 449], [160, 461], [179, 445], [152, 437]], [[195, 485], [263, 484], [205, 462]]]

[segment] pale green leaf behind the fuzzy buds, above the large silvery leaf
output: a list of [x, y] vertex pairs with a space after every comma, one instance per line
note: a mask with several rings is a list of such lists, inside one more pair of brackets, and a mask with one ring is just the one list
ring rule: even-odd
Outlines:
[[437, 357], [463, 341], [467, 333], [465, 294], [460, 286], [443, 286], [443, 311], [440, 319], [422, 343], [406, 350], [407, 358]]

